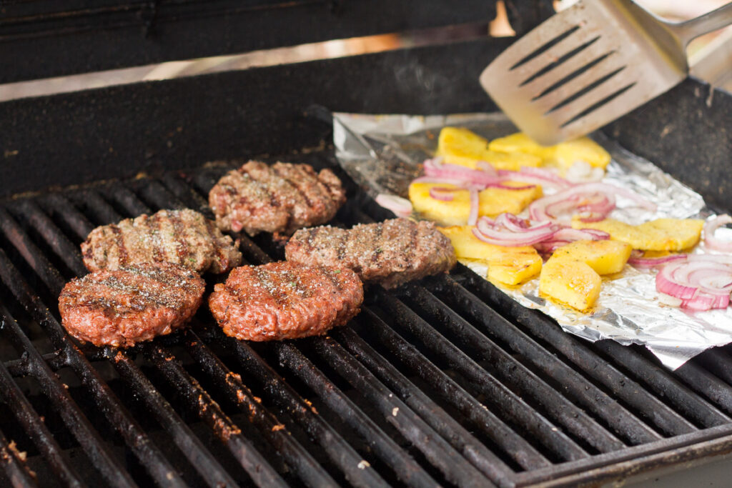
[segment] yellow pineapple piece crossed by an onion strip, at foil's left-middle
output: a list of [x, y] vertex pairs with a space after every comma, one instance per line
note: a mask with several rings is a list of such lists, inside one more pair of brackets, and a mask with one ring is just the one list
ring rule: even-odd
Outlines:
[[[523, 183], [507, 181], [506, 184], [523, 186]], [[412, 183], [409, 185], [409, 200], [414, 210], [425, 219], [434, 220], [444, 225], [464, 225], [470, 215], [470, 194], [468, 190], [452, 193], [452, 200], [442, 201], [430, 197], [430, 188], [454, 188], [450, 184]], [[488, 188], [479, 192], [480, 216], [495, 217], [503, 212], [518, 214], [532, 201], [542, 196], [541, 187], [527, 189]]]

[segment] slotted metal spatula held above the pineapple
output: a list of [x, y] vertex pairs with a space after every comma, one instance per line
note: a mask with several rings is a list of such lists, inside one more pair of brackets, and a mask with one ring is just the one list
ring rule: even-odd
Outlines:
[[480, 84], [529, 137], [578, 138], [686, 78], [685, 48], [732, 23], [732, 2], [669, 23], [630, 0], [584, 0], [546, 20], [498, 56]]

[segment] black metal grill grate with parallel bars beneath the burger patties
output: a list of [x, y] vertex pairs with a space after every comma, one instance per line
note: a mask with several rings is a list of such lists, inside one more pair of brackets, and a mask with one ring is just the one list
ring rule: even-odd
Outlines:
[[[0, 205], [0, 464], [13, 484], [563, 484], [732, 443], [730, 348], [671, 373], [642, 348], [564, 334], [462, 266], [367, 288], [327, 337], [239, 342], [203, 307], [187, 331], [128, 350], [73, 342], [56, 298], [86, 273], [86, 234], [163, 208], [210, 217], [226, 169]], [[389, 217], [348, 184], [337, 223]], [[269, 236], [240, 237], [248, 263], [283, 258]]]

